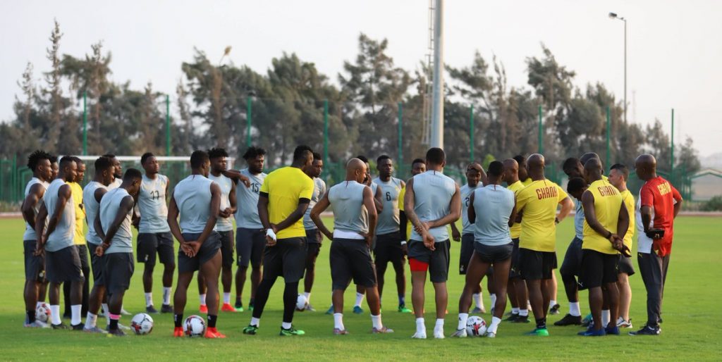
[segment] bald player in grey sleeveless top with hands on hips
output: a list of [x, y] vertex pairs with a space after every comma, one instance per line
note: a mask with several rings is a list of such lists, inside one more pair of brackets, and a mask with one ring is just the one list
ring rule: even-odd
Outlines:
[[[346, 165], [346, 180], [334, 185], [318, 200], [311, 218], [331, 243], [331, 281], [333, 284], [334, 334], [347, 334], [343, 323], [344, 291], [353, 279], [365, 287], [371, 312], [373, 333], [393, 332], [381, 322], [380, 300], [376, 275], [369, 252], [376, 227], [376, 211], [370, 187], [360, 183], [366, 175], [366, 165], [360, 159], [351, 159]], [[321, 213], [332, 206], [334, 232], [321, 221]]]

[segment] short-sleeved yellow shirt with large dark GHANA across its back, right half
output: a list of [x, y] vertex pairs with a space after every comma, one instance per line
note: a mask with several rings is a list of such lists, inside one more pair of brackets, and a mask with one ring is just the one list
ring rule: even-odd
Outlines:
[[536, 180], [516, 194], [520, 211], [519, 247], [537, 252], [554, 252], [557, 243], [557, 205], [567, 198], [562, 187], [549, 180]]

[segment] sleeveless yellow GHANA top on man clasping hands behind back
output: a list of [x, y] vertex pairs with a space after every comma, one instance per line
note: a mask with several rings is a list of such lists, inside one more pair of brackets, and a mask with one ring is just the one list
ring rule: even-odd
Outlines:
[[[604, 226], [604, 229], [616, 233], [619, 208], [622, 206], [622, 195], [619, 195], [617, 187], [605, 180], [596, 180], [589, 185], [585, 193], [591, 193], [594, 196], [594, 213], [596, 213], [596, 220], [599, 221], [599, 224]], [[585, 215], [587, 214], [585, 213]], [[619, 253], [614, 250], [609, 239], [606, 239], [606, 235], [599, 234], [589, 226], [586, 218], [584, 219], [582, 249], [595, 250], [604, 254]]]

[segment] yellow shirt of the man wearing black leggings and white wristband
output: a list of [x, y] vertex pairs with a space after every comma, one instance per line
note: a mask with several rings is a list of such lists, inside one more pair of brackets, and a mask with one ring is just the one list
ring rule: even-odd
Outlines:
[[[282, 167], [266, 175], [261, 193], [268, 194], [269, 221], [278, 224], [298, 207], [298, 200], [313, 195], [313, 180], [297, 167]], [[306, 237], [303, 216], [276, 234], [278, 239]]]

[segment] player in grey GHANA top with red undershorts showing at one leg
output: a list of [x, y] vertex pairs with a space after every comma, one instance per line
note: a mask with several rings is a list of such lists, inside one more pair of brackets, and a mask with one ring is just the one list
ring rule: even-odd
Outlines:
[[[406, 184], [404, 210], [412, 222], [409, 242], [412, 296], [416, 314], [414, 338], [426, 338], [424, 322], [424, 285], [426, 273], [440, 293], [436, 304], [434, 337], [444, 337], [444, 317], [448, 304], [446, 280], [449, 268], [449, 248], [446, 226], [461, 216], [461, 195], [458, 185], [443, 175], [446, 155], [442, 149], [432, 148], [426, 153], [427, 172], [412, 177]], [[418, 290], [417, 290], [418, 289]]]

